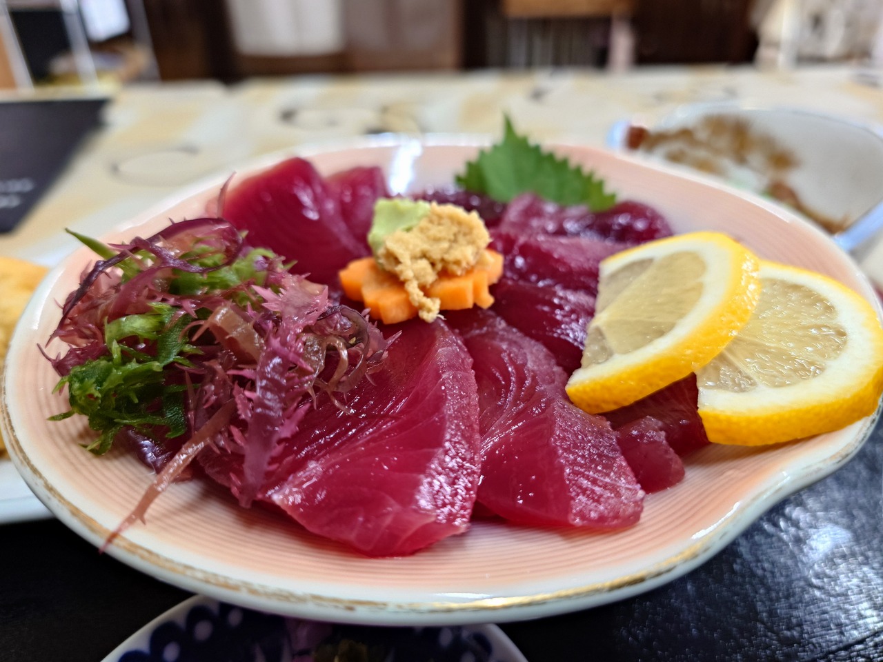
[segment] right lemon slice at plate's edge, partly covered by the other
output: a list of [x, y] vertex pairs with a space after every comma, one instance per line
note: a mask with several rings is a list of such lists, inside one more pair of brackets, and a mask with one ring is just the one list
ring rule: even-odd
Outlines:
[[872, 306], [827, 276], [761, 262], [754, 314], [697, 372], [708, 439], [755, 446], [839, 430], [883, 391], [883, 329]]

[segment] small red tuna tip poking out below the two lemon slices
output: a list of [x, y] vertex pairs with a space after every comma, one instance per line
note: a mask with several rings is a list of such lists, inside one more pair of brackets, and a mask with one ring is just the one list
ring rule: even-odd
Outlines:
[[655, 418], [645, 416], [623, 425], [616, 430], [616, 442], [645, 492], [659, 492], [683, 480], [683, 462]]

